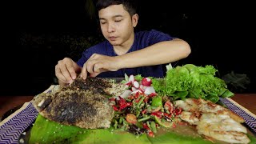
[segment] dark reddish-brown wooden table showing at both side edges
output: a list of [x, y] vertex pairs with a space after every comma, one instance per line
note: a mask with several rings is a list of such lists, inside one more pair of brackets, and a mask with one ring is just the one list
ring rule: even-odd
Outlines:
[[[32, 98], [34, 96], [0, 96], [0, 118], [6, 111], [30, 102]], [[231, 99], [256, 114], [256, 94], [234, 94]]]

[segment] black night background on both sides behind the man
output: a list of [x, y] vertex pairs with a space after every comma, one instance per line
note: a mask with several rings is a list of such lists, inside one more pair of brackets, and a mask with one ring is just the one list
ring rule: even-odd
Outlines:
[[[145, 2], [145, 3], [144, 3]], [[54, 84], [58, 60], [78, 59], [102, 40], [97, 17], [86, 0], [10, 1], [3, 5], [0, 95], [34, 95]], [[234, 71], [250, 84], [232, 87], [255, 93], [253, 5], [248, 2], [140, 1], [136, 30], [162, 30], [190, 43], [192, 53], [178, 65], [213, 65], [217, 76]]]

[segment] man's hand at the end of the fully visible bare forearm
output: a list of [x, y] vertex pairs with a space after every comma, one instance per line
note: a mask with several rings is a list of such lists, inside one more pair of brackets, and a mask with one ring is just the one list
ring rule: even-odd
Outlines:
[[102, 72], [116, 70], [119, 70], [118, 60], [116, 57], [110, 57], [102, 54], [93, 54], [83, 65], [81, 76], [82, 78], [86, 79], [88, 73], [90, 73], [90, 77], [96, 77]]

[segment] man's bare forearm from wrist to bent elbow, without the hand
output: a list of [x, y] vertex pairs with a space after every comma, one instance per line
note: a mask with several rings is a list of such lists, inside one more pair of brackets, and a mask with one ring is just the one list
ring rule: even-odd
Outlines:
[[190, 46], [181, 39], [158, 42], [145, 49], [117, 57], [118, 69], [140, 66], [154, 66], [178, 61], [190, 54]]

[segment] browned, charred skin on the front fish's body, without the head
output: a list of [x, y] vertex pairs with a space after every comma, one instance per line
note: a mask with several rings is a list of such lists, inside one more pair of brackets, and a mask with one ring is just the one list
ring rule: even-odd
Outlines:
[[90, 91], [59, 93], [41, 114], [54, 122], [86, 129], [109, 128], [114, 110], [108, 99]]

